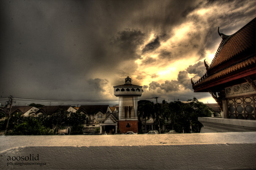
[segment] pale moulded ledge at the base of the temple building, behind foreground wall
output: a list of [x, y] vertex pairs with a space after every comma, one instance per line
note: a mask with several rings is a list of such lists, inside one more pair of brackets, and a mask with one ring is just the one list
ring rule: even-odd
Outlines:
[[207, 132], [250, 132], [256, 131], [256, 120], [199, 117], [203, 124], [201, 133]]

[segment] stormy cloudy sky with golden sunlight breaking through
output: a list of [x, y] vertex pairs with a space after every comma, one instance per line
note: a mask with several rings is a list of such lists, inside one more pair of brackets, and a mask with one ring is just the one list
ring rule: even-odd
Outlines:
[[[0, 97], [55, 100], [115, 100], [113, 86], [129, 76], [143, 86], [141, 98], [195, 96], [213, 103], [208, 93], [193, 92], [190, 79], [206, 72], [204, 59], [211, 63], [221, 41], [218, 27], [230, 35], [256, 17], [255, 0], [1, 0], [0, 5]], [[91, 104], [51, 104], [62, 103]]]

